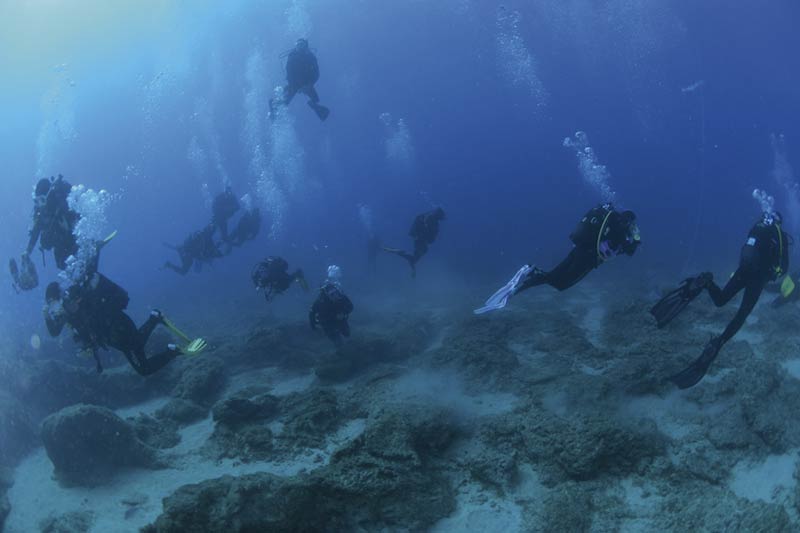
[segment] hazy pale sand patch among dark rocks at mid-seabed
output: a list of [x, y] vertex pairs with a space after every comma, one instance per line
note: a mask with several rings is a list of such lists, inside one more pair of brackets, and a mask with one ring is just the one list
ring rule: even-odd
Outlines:
[[464, 416], [492, 416], [512, 411], [518, 398], [509, 393], [468, 395], [461, 379], [454, 373], [414, 370], [404, 374], [391, 385], [394, 401], [438, 405]]

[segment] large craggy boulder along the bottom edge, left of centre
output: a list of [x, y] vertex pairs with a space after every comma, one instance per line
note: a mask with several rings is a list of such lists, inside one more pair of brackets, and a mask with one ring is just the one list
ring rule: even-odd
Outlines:
[[186, 485], [143, 531], [422, 531], [455, 510], [437, 462], [456, 434], [448, 412], [390, 409], [327, 466]]

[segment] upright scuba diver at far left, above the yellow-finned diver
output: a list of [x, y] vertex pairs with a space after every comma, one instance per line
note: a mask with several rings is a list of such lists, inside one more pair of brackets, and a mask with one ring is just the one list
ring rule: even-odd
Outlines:
[[28, 238], [28, 246], [22, 253], [19, 266], [16, 260], [9, 261], [9, 270], [16, 290], [31, 290], [39, 285], [36, 267], [30, 259], [31, 252], [39, 243], [44, 250], [53, 250], [56, 266], [64, 270], [67, 258], [78, 251], [73, 230], [80, 215], [69, 208], [67, 197], [72, 185], [58, 175], [57, 178], [43, 178], [36, 184], [33, 193], [33, 225]]

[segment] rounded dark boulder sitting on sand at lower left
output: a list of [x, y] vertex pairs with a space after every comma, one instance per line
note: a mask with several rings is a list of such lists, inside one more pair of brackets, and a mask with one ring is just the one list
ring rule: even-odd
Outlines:
[[42, 422], [42, 440], [60, 482], [98, 485], [126, 467], [158, 468], [157, 452], [113, 411], [79, 404]]

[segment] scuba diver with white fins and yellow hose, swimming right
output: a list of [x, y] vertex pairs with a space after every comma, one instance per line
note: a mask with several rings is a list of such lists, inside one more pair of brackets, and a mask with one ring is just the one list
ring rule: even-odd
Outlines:
[[606, 203], [591, 209], [570, 235], [574, 246], [553, 270], [524, 265], [503, 288], [494, 293], [476, 315], [502, 309], [508, 299], [531, 287], [550, 285], [564, 291], [606, 261], [621, 254], [632, 256], [641, 244], [633, 211], [616, 211]]

